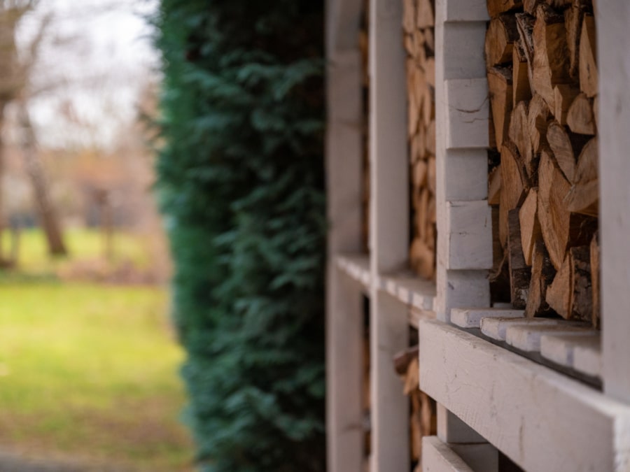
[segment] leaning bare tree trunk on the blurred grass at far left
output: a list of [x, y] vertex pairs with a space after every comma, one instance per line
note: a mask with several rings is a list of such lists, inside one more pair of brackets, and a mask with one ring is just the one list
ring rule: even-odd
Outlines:
[[41, 225], [48, 241], [48, 252], [51, 255], [67, 255], [66, 245], [59, 226], [57, 212], [50, 199], [48, 180], [37, 152], [35, 131], [29, 116], [25, 101], [20, 101], [20, 124], [22, 125], [21, 148], [29, 178], [33, 185], [37, 210], [41, 218]]

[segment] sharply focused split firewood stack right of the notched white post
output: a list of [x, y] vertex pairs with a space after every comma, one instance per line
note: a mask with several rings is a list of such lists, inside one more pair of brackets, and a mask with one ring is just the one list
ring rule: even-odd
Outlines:
[[[594, 0], [487, 0], [494, 280], [514, 308], [599, 325]], [[497, 221], [498, 220], [498, 221]], [[507, 274], [507, 275], [506, 275]]]

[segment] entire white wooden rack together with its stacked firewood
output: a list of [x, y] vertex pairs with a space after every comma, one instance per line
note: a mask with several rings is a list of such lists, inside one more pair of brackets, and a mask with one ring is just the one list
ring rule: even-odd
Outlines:
[[[419, 56], [402, 38], [422, 28], [417, 16], [403, 22], [420, 2], [370, 0], [367, 251], [362, 3], [328, 1], [329, 470], [409, 471], [409, 401], [393, 359], [414, 330], [419, 388], [437, 401], [421, 470], [630, 470], [630, 3], [437, 0], [435, 145], [419, 157], [426, 122], [412, 123], [418, 96], [408, 92]], [[566, 48], [556, 48], [562, 29]], [[416, 169], [431, 156], [434, 187]], [[414, 263], [424, 188], [435, 201], [433, 273]], [[542, 229], [549, 199], [566, 204], [554, 210], [563, 222], [568, 213], [566, 242], [557, 222], [552, 236]], [[583, 239], [572, 219], [587, 222]], [[561, 317], [541, 316], [549, 310]]]

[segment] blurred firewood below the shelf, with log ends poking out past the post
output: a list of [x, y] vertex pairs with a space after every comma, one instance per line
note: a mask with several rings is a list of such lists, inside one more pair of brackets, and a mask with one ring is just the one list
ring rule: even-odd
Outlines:
[[418, 346], [396, 355], [394, 368], [404, 382], [403, 393], [409, 396], [411, 401], [409, 448], [414, 471], [421, 471], [422, 438], [437, 434], [437, 405], [435, 400], [419, 389]]

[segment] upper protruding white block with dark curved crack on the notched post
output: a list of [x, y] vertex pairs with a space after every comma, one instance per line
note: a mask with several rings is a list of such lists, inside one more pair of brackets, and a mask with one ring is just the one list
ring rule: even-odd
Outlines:
[[487, 148], [490, 125], [487, 80], [447, 80], [446, 94], [447, 149]]

